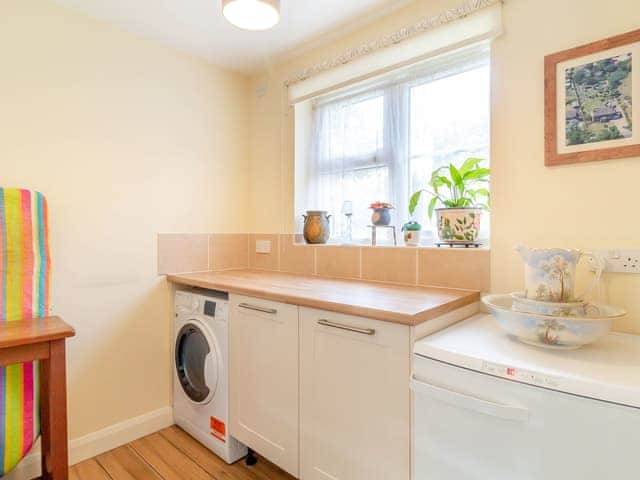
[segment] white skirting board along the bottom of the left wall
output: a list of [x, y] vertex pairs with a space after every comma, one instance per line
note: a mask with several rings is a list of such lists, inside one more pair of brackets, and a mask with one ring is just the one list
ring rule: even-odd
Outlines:
[[[173, 425], [173, 409], [164, 407], [116, 423], [69, 442], [69, 464], [74, 465], [113, 450], [138, 438]], [[40, 476], [40, 440], [31, 452], [3, 480], [31, 480]]]

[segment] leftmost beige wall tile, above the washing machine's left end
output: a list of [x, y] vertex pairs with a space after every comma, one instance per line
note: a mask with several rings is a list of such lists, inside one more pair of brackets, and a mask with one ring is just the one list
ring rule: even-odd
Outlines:
[[158, 274], [208, 270], [208, 241], [206, 234], [158, 234]]

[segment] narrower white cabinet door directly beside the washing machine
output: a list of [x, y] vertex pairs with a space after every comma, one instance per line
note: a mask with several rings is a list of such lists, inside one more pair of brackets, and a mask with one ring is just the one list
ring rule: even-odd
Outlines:
[[230, 433], [298, 476], [298, 307], [231, 296]]

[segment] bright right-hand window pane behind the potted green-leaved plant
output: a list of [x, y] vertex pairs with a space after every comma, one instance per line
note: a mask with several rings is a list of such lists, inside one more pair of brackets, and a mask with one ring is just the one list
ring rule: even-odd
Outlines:
[[[412, 192], [424, 188], [438, 167], [468, 157], [489, 159], [489, 108], [488, 66], [411, 88]], [[428, 222], [426, 204], [423, 199], [414, 214], [420, 222]]]

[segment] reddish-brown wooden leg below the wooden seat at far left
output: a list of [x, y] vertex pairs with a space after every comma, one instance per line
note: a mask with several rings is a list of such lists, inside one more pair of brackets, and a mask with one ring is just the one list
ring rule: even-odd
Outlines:
[[67, 379], [65, 341], [49, 343], [49, 358], [40, 362], [42, 480], [67, 480]]

